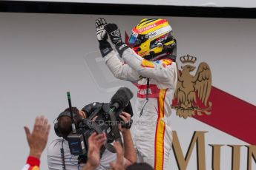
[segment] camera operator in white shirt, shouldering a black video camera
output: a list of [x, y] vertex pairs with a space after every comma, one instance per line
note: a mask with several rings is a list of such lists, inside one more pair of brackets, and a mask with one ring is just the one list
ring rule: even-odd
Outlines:
[[[95, 103], [94, 103], [95, 104]], [[69, 111], [69, 109], [65, 109], [65, 111]], [[83, 118], [88, 118], [93, 112], [93, 103], [85, 106], [82, 111], [79, 111], [76, 107], [72, 108], [74, 122], [76, 126]], [[125, 123], [128, 123], [131, 119], [131, 115], [125, 112], [122, 112], [119, 115]], [[96, 118], [94, 118], [95, 120]], [[71, 127], [71, 118], [70, 116], [59, 116], [57, 118], [57, 131], [61, 134], [62, 138], [53, 140], [48, 146], [47, 149], [47, 163], [49, 170], [56, 169], [82, 169], [84, 163], [78, 162], [78, 157], [70, 154], [70, 149], [68, 146], [68, 135], [72, 131]], [[121, 129], [123, 140], [124, 140], [124, 148], [125, 148], [125, 166], [129, 166], [132, 163], [137, 161], [137, 155], [134, 150], [134, 144], [131, 139], [130, 129]], [[90, 148], [90, 147], [89, 147]], [[88, 160], [90, 159], [88, 154]], [[102, 153], [99, 166], [96, 169], [110, 169], [110, 163], [116, 160], [116, 154], [109, 152], [107, 149]]]

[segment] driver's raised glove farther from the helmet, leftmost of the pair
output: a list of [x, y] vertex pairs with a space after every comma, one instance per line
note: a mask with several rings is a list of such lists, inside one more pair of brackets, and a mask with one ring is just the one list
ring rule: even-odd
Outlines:
[[102, 57], [104, 58], [109, 52], [113, 49], [111, 44], [108, 43], [108, 33], [104, 29], [104, 26], [107, 24], [104, 18], [97, 18], [95, 22], [96, 27], [96, 35], [99, 41], [99, 50], [102, 53]]

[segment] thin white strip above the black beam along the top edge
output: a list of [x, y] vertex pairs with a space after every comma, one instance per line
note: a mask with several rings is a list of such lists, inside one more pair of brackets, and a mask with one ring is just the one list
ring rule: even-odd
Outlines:
[[[22, 1], [22, 0], [18, 0]], [[39, 1], [39, 0], [28, 0]], [[203, 7], [256, 7], [254, 0], [40, 0], [40, 1], [65, 1], [65, 2], [91, 2], [108, 4], [156, 4], [156, 5], [177, 5], [177, 6], [203, 6]]]

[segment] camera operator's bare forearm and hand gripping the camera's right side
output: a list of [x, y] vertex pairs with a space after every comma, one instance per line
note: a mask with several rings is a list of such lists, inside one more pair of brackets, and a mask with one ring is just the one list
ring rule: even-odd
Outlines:
[[[131, 115], [127, 112], [122, 112], [121, 115], [119, 115], [122, 120], [124, 120], [125, 123], [129, 123], [131, 121]], [[130, 127], [128, 127], [130, 128]], [[122, 128], [122, 137], [124, 140], [124, 149], [125, 149], [125, 167], [130, 166], [133, 163], [137, 162], [137, 154], [134, 149], [134, 143], [131, 137], [131, 131], [128, 128]]]

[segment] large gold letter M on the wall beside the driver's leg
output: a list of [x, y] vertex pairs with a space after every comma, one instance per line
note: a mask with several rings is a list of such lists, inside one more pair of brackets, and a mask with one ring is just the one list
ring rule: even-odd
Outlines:
[[194, 135], [188, 146], [188, 152], [186, 153], [186, 157], [184, 157], [177, 132], [173, 132], [172, 148], [174, 150], [177, 166], [180, 170], [186, 170], [195, 143], [197, 143], [197, 170], [206, 170], [205, 133], [206, 132], [194, 132]]

